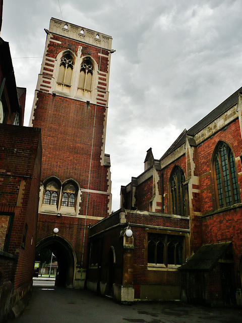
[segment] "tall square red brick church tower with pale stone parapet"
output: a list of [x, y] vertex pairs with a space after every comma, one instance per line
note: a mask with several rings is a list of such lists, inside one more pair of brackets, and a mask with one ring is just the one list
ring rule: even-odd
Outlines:
[[82, 288], [89, 225], [111, 212], [105, 154], [112, 38], [51, 18], [30, 126], [41, 128], [37, 247], [58, 259], [56, 284]]

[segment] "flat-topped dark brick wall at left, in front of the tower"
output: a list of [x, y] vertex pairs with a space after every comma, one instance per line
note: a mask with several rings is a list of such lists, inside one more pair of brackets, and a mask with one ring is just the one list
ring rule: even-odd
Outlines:
[[8, 252], [0, 254], [0, 284], [12, 286], [12, 307], [32, 286], [42, 148], [40, 129], [2, 124], [0, 132], [0, 212], [14, 214]]

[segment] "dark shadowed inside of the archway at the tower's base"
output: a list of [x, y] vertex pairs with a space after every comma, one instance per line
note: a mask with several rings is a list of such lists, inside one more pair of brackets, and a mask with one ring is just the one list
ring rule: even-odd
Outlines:
[[43, 248], [51, 250], [58, 261], [55, 285], [73, 288], [76, 254], [70, 244], [61, 237], [51, 236], [38, 242], [35, 254]]

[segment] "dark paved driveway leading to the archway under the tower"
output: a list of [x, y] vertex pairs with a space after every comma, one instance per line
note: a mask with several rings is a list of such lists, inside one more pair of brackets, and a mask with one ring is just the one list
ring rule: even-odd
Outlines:
[[8, 323], [241, 323], [242, 308], [180, 302], [120, 305], [90, 291], [35, 286], [21, 317]]

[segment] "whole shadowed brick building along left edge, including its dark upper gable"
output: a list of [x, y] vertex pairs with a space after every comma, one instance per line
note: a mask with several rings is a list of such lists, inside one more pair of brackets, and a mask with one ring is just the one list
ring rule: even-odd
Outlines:
[[0, 38], [1, 322], [11, 310], [18, 315], [32, 291], [42, 148], [40, 129], [23, 127], [25, 96], [9, 43]]

